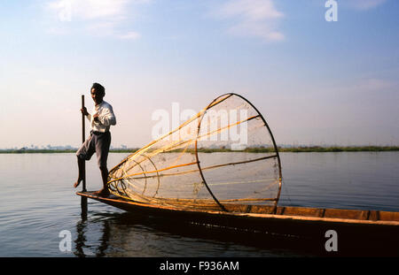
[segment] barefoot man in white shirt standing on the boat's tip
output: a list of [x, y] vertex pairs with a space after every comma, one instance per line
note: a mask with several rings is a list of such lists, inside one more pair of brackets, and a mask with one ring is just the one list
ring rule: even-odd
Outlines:
[[93, 83], [90, 94], [95, 103], [92, 115], [90, 115], [86, 107], [83, 107], [81, 111], [82, 114], [90, 120], [91, 131], [89, 138], [83, 142], [81, 148], [76, 152], [79, 175], [74, 183], [74, 187], [78, 187], [83, 180], [84, 161], [90, 160], [90, 157], [96, 152], [98, 167], [103, 180], [103, 188], [96, 192], [96, 195], [108, 196], [110, 193], [106, 186], [108, 180], [106, 159], [111, 144], [111, 133], [109, 132], [109, 128], [112, 125], [116, 125], [116, 118], [113, 114], [113, 107], [103, 100], [106, 95], [106, 89], [101, 84]]

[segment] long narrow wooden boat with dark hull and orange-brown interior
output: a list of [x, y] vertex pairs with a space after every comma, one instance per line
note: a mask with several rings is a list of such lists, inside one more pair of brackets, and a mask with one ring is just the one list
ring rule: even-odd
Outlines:
[[[176, 208], [168, 205], [134, 202], [119, 196], [100, 197], [93, 192], [77, 195], [104, 202], [139, 215], [210, 225], [234, 232], [262, 233], [314, 240], [324, 248], [325, 233], [334, 230], [340, 240], [340, 251], [378, 252], [399, 256], [399, 212], [380, 210], [317, 209], [291, 206], [225, 204], [217, 206]], [[360, 250], [359, 250], [360, 249]], [[385, 255], [382, 253], [382, 255]]]

